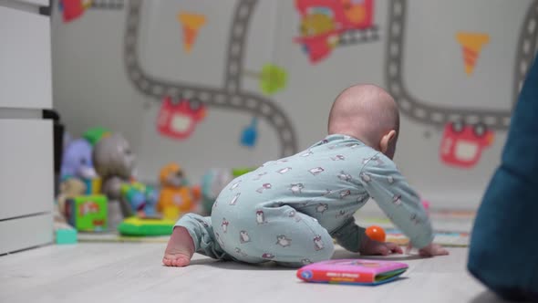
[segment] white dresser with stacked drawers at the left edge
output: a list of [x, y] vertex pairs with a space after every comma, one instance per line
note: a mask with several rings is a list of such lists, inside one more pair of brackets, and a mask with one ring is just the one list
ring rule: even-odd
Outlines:
[[0, 255], [53, 240], [47, 0], [0, 0]]

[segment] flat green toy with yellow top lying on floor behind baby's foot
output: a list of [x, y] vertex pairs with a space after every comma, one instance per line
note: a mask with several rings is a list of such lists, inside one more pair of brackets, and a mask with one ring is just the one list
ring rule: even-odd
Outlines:
[[118, 225], [121, 235], [171, 235], [175, 221], [156, 218], [129, 217]]

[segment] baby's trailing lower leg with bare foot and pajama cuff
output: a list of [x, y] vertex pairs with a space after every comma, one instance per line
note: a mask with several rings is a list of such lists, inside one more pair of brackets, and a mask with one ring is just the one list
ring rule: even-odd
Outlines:
[[194, 252], [218, 259], [230, 259], [215, 241], [211, 217], [185, 214], [174, 226], [162, 263], [165, 266], [188, 266]]

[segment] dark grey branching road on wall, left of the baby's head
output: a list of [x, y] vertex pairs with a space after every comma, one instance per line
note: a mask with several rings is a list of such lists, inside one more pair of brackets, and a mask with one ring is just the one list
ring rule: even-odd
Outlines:
[[[140, 67], [137, 44], [142, 3], [141, 0], [129, 2], [124, 48], [125, 67], [129, 79], [140, 93], [160, 102], [168, 98], [181, 99], [181, 102], [200, 103], [205, 108], [247, 112], [256, 117], [256, 120], [265, 120], [274, 129], [280, 143], [280, 156], [292, 155], [297, 151], [295, 129], [285, 111], [273, 99], [242, 88], [246, 37], [253, 10], [258, 3], [256, 0], [240, 0], [235, 6], [222, 87], [192, 85], [156, 78]], [[192, 120], [192, 123], [194, 122]]]

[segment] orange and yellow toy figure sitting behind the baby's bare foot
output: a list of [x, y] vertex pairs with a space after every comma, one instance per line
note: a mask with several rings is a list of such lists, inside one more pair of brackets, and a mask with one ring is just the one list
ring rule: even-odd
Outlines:
[[180, 165], [169, 163], [160, 170], [160, 196], [157, 210], [169, 220], [194, 210], [200, 200], [200, 190], [187, 185]]

